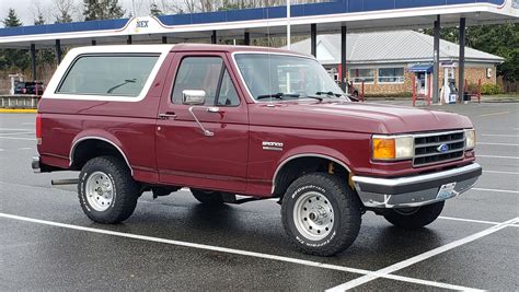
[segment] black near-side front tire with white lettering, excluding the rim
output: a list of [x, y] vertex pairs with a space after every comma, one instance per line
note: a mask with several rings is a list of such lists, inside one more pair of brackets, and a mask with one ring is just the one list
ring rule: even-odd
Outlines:
[[[333, 256], [348, 248], [357, 238], [361, 223], [361, 205], [346, 179], [325, 173], [307, 174], [288, 187], [281, 205], [281, 221], [286, 235], [296, 248], [310, 255]], [[301, 196], [319, 194], [333, 210], [333, 225], [324, 238], [311, 240], [296, 226], [296, 206]], [[302, 199], [302, 198], [301, 198]], [[331, 212], [332, 213], [332, 212]], [[307, 221], [307, 218], [304, 218]], [[298, 223], [301, 227], [301, 223]]]

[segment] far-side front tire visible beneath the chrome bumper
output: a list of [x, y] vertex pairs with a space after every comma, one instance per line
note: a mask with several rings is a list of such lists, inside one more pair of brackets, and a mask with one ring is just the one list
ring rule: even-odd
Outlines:
[[432, 223], [443, 210], [445, 201], [435, 202], [419, 207], [414, 212], [405, 214], [399, 210], [390, 210], [384, 214], [385, 220], [391, 224], [404, 229], [415, 230]]

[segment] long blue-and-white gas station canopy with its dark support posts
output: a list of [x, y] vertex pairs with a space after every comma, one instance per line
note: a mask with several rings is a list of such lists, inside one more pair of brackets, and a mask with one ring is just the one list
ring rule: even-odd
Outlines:
[[287, 7], [1, 28], [0, 48], [28, 49], [32, 56], [32, 79], [38, 80], [35, 52], [39, 48], [54, 48], [59, 62], [62, 46], [186, 42], [217, 44], [219, 39], [239, 39], [241, 44], [250, 45], [251, 39], [257, 37], [310, 34], [310, 54], [316, 56], [318, 35], [338, 34], [341, 66], [337, 74], [346, 78], [347, 34], [434, 27], [432, 49], [429, 52], [431, 68], [427, 71], [432, 73], [432, 102], [438, 102], [442, 60], [440, 27], [459, 27], [458, 59], [452, 62], [455, 62], [453, 70], [458, 72], [458, 87], [463, 89], [465, 27], [518, 21], [518, 0], [333, 0]]

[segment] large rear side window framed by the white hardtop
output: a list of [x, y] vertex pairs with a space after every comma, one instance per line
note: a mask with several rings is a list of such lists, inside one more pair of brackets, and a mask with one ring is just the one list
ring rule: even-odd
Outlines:
[[56, 93], [137, 97], [158, 59], [159, 55], [81, 56]]

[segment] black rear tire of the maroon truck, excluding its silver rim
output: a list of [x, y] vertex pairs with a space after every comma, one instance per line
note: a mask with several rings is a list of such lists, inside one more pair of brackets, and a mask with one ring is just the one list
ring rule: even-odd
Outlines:
[[[86, 182], [95, 172], [108, 176], [113, 186], [113, 201], [104, 211], [95, 210], [86, 198]], [[130, 170], [120, 159], [99, 156], [88, 161], [79, 175], [78, 197], [83, 212], [92, 220], [104, 224], [115, 224], [128, 219], [137, 206], [139, 184], [131, 177]]]

